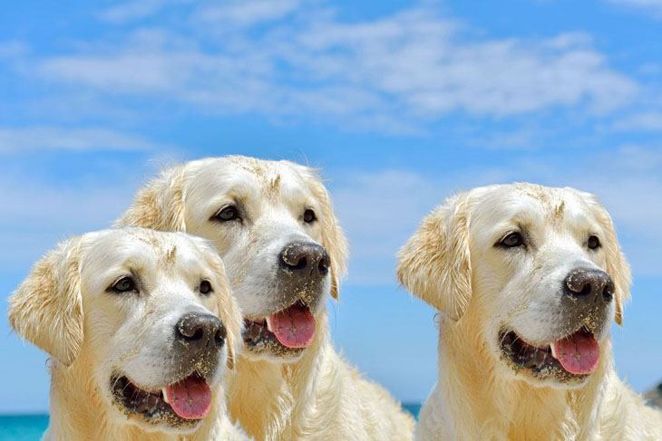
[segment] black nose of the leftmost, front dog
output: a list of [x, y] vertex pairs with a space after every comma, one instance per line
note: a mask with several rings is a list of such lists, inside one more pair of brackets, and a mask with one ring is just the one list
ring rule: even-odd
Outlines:
[[175, 335], [190, 349], [219, 349], [225, 342], [226, 330], [223, 322], [211, 314], [189, 312], [175, 325]]

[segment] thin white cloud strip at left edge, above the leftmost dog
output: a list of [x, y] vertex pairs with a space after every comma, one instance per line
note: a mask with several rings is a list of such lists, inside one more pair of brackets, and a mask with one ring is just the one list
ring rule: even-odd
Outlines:
[[37, 150], [149, 150], [156, 145], [139, 136], [110, 129], [54, 126], [0, 127], [0, 154]]

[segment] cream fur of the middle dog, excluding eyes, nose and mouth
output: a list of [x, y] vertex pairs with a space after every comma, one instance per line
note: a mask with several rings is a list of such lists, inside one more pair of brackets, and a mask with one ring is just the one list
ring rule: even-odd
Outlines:
[[[221, 228], [209, 222], [227, 200], [248, 206], [249, 231], [244, 225]], [[316, 225], [299, 221], [306, 204], [316, 209]], [[322, 244], [331, 258], [328, 292], [335, 298], [346, 269], [346, 239], [326, 188], [312, 169], [287, 161], [207, 158], [170, 168], [139, 192], [119, 224], [187, 231], [211, 240], [248, 314], [269, 301], [264, 290], [270, 279], [263, 268], [276, 262], [270, 252], [274, 241], [294, 235]], [[256, 259], [258, 264], [250, 266]], [[297, 360], [239, 357], [229, 382], [231, 416], [257, 439], [410, 439], [414, 419], [385, 389], [342, 360], [330, 341], [325, 309], [315, 315], [315, 340]]]

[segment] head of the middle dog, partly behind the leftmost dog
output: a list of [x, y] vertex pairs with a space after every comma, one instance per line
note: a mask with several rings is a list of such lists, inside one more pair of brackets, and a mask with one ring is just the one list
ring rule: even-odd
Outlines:
[[252, 359], [297, 360], [345, 272], [346, 239], [326, 188], [312, 169], [287, 161], [208, 158], [170, 168], [120, 223], [216, 245], [244, 313], [242, 354]]

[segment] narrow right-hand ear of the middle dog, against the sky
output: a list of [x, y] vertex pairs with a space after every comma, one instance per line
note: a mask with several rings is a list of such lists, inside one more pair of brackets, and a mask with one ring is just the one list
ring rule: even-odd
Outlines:
[[322, 246], [326, 248], [326, 253], [331, 259], [331, 295], [337, 300], [340, 292], [340, 280], [347, 272], [347, 239], [334, 213], [331, 197], [316, 171], [298, 164], [289, 164], [306, 177], [309, 188], [322, 210], [321, 213], [317, 213], [316, 217], [322, 232]]

